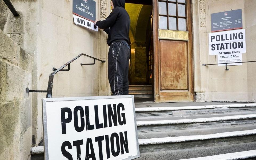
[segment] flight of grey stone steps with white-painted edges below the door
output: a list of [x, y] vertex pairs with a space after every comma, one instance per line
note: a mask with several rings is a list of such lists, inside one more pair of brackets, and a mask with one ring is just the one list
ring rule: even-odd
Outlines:
[[256, 149], [255, 104], [141, 105], [135, 108], [141, 153], [138, 159], [177, 160]]

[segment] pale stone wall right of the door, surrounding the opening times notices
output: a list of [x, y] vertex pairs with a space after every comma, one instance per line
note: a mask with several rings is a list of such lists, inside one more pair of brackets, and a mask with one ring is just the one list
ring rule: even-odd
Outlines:
[[[255, 1], [241, 0], [192, 0], [193, 7], [193, 53], [194, 53], [194, 91], [197, 92], [198, 102], [202, 101], [226, 101], [226, 102], [255, 102], [252, 93], [255, 94], [255, 83], [252, 77], [252, 66], [246, 64], [229, 66], [229, 71], [224, 66], [202, 66], [202, 64], [217, 63], [217, 55], [209, 55], [208, 35], [211, 33], [211, 14], [242, 9], [243, 29], [246, 29], [247, 53], [242, 54], [242, 61], [255, 59], [251, 53], [253, 36], [250, 36], [250, 29], [255, 27], [255, 8], [249, 3]], [[244, 4], [245, 3], [245, 4]], [[252, 7], [252, 6], [250, 6]], [[250, 21], [250, 24], [248, 22]], [[251, 27], [249, 29], [249, 27]], [[254, 29], [255, 32], [255, 29]], [[255, 50], [255, 48], [254, 48]], [[250, 57], [250, 58], [249, 58]], [[255, 74], [253, 75], [255, 76]], [[255, 97], [255, 95], [254, 95]]]

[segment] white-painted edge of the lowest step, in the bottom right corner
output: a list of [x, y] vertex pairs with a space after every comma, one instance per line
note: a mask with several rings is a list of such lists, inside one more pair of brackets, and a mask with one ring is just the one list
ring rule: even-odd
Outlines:
[[234, 160], [234, 159], [248, 159], [255, 158], [256, 150], [235, 152], [235, 153], [226, 153], [226, 154], [218, 154], [207, 157], [198, 157], [198, 158], [189, 158], [189, 159], [179, 159], [179, 160]]

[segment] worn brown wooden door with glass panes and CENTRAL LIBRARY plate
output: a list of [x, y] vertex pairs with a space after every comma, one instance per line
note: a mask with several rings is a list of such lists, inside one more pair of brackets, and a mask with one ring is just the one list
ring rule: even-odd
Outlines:
[[155, 102], [193, 102], [191, 0], [153, 0]]

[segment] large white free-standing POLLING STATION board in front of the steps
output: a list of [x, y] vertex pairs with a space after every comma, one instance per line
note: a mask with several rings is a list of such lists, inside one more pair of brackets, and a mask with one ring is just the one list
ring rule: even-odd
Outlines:
[[139, 157], [133, 95], [44, 98], [45, 160]]

